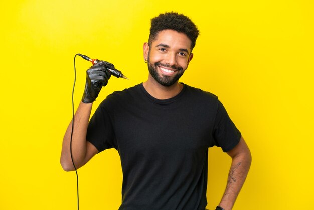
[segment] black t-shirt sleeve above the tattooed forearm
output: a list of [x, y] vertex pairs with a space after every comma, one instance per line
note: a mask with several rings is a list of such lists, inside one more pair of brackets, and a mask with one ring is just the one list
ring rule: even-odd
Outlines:
[[233, 149], [241, 138], [241, 132], [234, 125], [220, 101], [218, 101], [213, 138], [215, 145], [221, 147], [224, 152]]

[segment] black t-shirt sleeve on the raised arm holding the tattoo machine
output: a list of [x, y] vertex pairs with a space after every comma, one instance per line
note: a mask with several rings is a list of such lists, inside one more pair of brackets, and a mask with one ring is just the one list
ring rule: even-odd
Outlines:
[[86, 139], [92, 143], [99, 152], [109, 148], [117, 149], [112, 118], [106, 110], [105, 101], [99, 105], [90, 119]]

